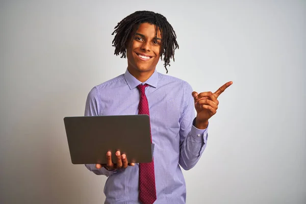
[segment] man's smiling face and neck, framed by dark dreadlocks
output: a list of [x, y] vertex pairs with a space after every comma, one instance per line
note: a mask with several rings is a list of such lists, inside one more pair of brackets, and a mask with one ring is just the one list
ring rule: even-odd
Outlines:
[[160, 59], [161, 32], [156, 25], [141, 23], [132, 33], [126, 46], [127, 69], [139, 81], [146, 81], [154, 73]]

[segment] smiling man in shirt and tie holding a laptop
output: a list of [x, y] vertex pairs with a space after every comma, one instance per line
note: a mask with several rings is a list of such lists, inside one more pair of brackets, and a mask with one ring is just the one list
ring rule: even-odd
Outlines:
[[[109, 176], [105, 203], [185, 203], [181, 167], [188, 170], [199, 160], [208, 139], [208, 120], [218, 108], [217, 97], [232, 82], [215, 93], [198, 94], [187, 82], [158, 73], [159, 59], [167, 70], [179, 47], [161, 14], [137, 11], [121, 20], [113, 34], [115, 54], [127, 58], [126, 72], [90, 91], [85, 115], [150, 115], [154, 161], [129, 164], [129, 158], [117, 151], [106, 153], [107, 165], [86, 167]], [[116, 154], [116, 164], [111, 154]]]

